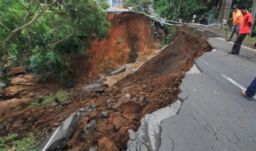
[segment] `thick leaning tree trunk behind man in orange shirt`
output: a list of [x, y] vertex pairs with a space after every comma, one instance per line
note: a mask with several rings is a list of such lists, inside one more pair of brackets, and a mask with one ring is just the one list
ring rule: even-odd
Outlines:
[[227, 19], [230, 16], [232, 0], [222, 0], [220, 14], [217, 18], [217, 23], [221, 23], [223, 19]]

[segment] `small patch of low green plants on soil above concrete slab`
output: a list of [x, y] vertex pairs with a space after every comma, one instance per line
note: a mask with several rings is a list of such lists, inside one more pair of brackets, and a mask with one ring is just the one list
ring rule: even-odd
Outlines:
[[69, 102], [69, 98], [64, 91], [59, 91], [57, 94], [51, 94], [48, 96], [39, 96], [37, 100], [38, 101], [31, 103], [31, 108], [39, 106], [53, 106], [56, 103], [63, 106]]

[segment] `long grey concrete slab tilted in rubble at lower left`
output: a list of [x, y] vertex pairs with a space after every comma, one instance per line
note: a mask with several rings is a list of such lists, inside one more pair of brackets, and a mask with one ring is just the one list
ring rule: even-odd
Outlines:
[[51, 133], [45, 141], [37, 148], [37, 150], [62, 150], [66, 143], [72, 138], [79, 119], [78, 113], [73, 113], [68, 119]]

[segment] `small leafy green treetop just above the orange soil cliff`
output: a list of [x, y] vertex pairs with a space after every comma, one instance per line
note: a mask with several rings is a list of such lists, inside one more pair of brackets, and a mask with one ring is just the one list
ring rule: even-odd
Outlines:
[[126, 4], [132, 7], [132, 10], [143, 13], [148, 13], [150, 5], [154, 3], [153, 0], [127, 0]]

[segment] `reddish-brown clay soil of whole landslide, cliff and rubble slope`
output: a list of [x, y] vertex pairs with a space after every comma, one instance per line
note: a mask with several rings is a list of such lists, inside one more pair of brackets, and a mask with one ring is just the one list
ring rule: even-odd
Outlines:
[[[204, 33], [184, 25], [168, 47], [133, 74], [109, 86], [103, 93], [84, 92], [81, 85], [95, 79], [98, 73], [107, 73], [123, 63], [134, 62], [137, 56], [158, 44], [146, 16], [121, 13], [109, 14], [108, 19], [113, 25], [111, 38], [92, 44], [88, 52], [95, 57], [91, 62], [73, 56], [73, 66], [81, 75], [77, 77], [80, 79], [77, 79], [79, 82], [75, 88], [64, 89], [55, 83], [36, 84], [31, 75], [13, 79], [14, 87], [7, 88], [4, 97], [1, 97], [9, 100], [0, 102], [0, 136], [17, 133], [15, 139], [21, 139], [34, 132], [36, 141], [43, 141], [70, 114], [85, 108], [74, 137], [63, 150], [90, 147], [98, 150], [126, 149], [128, 129], [137, 131], [145, 114], [175, 102], [184, 74], [197, 57], [211, 50]], [[56, 103], [54, 106], [28, 107], [36, 96], [59, 90], [68, 92], [70, 102], [66, 106]], [[138, 98], [138, 101], [125, 98], [126, 94], [130, 94], [130, 98]], [[96, 104], [95, 111], [89, 111], [91, 103]], [[105, 112], [109, 114], [108, 118], [102, 118]], [[96, 128], [85, 135], [84, 129], [92, 120], [97, 121]]]

